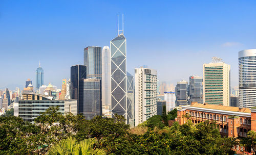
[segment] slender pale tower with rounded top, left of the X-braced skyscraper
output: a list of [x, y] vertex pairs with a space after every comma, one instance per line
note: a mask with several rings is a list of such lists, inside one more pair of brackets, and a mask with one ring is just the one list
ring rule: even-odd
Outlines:
[[102, 114], [111, 117], [111, 59], [110, 47], [104, 46], [102, 49]]

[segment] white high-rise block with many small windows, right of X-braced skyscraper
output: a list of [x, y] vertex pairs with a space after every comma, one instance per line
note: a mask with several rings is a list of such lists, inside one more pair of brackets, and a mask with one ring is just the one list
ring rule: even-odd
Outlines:
[[135, 68], [135, 126], [157, 114], [157, 71]]

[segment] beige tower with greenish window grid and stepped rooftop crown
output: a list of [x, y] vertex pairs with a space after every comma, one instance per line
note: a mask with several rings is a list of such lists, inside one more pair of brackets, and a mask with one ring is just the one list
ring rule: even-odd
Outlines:
[[204, 103], [229, 106], [230, 65], [217, 57], [212, 57], [209, 64], [203, 65]]

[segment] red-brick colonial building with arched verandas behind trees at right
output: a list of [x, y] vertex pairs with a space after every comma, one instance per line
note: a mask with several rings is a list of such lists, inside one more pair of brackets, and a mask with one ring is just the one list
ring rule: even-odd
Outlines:
[[[188, 120], [197, 124], [203, 121], [216, 122], [221, 136], [243, 138], [250, 130], [256, 131], [256, 109], [238, 108], [229, 106], [198, 104], [193, 102], [190, 106], [182, 106], [177, 111], [177, 121], [184, 124]], [[191, 117], [183, 117], [185, 114]], [[234, 146], [239, 153], [245, 153], [243, 146]]]

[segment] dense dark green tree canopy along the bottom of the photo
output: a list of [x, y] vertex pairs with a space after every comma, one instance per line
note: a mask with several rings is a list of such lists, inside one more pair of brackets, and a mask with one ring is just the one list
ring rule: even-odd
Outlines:
[[[63, 116], [57, 110], [49, 108], [35, 124], [19, 117], [0, 117], [0, 154], [51, 154], [54, 150], [56, 154], [57, 149], [86, 150], [85, 145], [91, 154], [93, 150], [102, 154], [234, 154], [235, 141], [222, 138], [216, 124], [209, 121], [197, 125], [175, 122], [168, 127], [161, 116], [154, 116], [144, 126], [130, 129], [119, 115], [116, 119], [96, 116], [89, 121], [82, 115]], [[168, 115], [175, 117], [175, 111]], [[157, 127], [159, 122], [163, 126]], [[82, 145], [90, 139], [93, 144]]]

